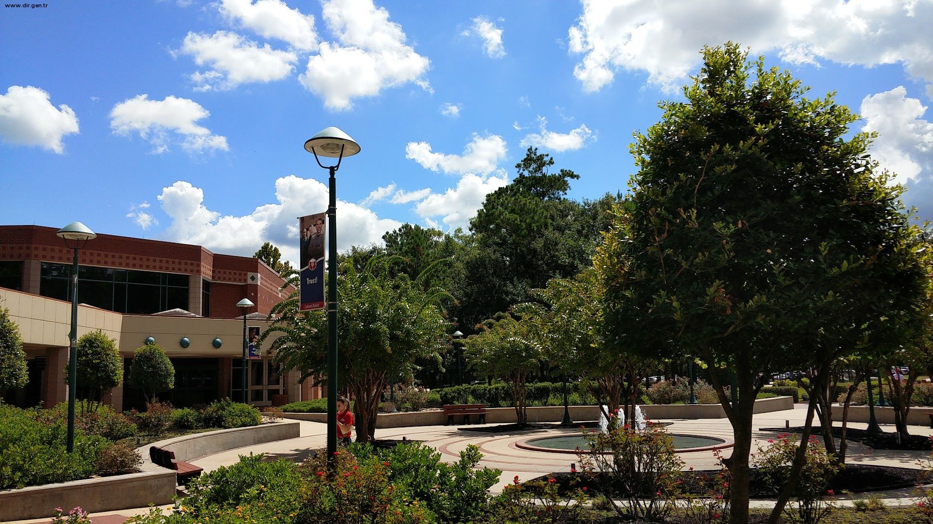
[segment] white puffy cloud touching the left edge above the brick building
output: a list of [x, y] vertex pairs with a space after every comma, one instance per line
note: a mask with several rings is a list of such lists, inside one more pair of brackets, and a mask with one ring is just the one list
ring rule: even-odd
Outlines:
[[49, 93], [32, 86], [10, 86], [0, 95], [0, 140], [64, 152], [62, 137], [77, 134], [77, 116], [65, 104], [58, 109]]

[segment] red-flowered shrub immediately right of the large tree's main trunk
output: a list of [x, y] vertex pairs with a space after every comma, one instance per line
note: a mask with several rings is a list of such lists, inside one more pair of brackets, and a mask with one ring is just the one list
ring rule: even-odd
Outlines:
[[[800, 444], [789, 434], [780, 434], [768, 440], [768, 446], [759, 445], [759, 453], [754, 466], [759, 475], [774, 493], [779, 493], [787, 485], [790, 465]], [[829, 490], [829, 482], [839, 472], [840, 465], [832, 460], [815, 436], [810, 437], [806, 451], [806, 461], [801, 469], [801, 478], [795, 484], [792, 498], [795, 504], [787, 504], [785, 513], [794, 521], [815, 524], [829, 515], [834, 507]]]

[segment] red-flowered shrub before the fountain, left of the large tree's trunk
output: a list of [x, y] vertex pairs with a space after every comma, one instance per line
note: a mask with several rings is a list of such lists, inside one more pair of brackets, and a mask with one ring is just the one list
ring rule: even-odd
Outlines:
[[[590, 450], [579, 451], [584, 474], [606, 493], [620, 516], [660, 520], [675, 507], [681, 492], [682, 462], [674, 443], [659, 428], [634, 429], [609, 417], [606, 433], [584, 433]], [[616, 501], [617, 495], [625, 503]]]

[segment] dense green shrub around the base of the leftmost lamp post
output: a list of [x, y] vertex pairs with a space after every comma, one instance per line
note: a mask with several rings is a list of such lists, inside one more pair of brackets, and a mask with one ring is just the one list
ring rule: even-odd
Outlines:
[[36, 419], [35, 409], [0, 403], [0, 490], [87, 478], [110, 443], [75, 432], [75, 452], [66, 452], [67, 426]]

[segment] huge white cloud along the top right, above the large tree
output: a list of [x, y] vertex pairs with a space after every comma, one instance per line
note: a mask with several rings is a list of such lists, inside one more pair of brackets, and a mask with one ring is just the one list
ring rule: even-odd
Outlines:
[[930, 20], [933, 3], [915, 0], [583, 0], [569, 48], [583, 54], [574, 76], [586, 91], [602, 89], [620, 70], [648, 73], [649, 85], [675, 90], [700, 63], [703, 45], [731, 40], [792, 63], [900, 63], [933, 97]]

